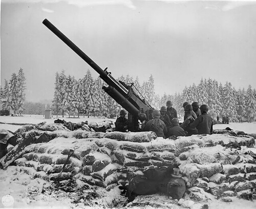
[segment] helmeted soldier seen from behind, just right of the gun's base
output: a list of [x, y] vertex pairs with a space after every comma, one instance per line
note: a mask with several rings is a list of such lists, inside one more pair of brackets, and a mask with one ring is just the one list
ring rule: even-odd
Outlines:
[[159, 110], [155, 109], [152, 112], [153, 119], [148, 121], [142, 131], [154, 131], [158, 137], [165, 137], [167, 134], [167, 128], [164, 122], [160, 119], [161, 113]]

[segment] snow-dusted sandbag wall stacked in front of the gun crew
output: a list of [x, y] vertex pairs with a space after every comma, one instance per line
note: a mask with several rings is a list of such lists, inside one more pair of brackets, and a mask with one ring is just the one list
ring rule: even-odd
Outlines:
[[75, 179], [108, 189], [143, 175], [147, 168], [177, 164], [191, 199], [207, 198], [206, 193], [249, 199], [255, 192], [255, 141], [245, 134], [220, 130], [171, 140], [156, 138], [154, 132], [30, 130], [27, 135], [32, 133], [51, 139], [26, 146], [15, 160], [17, 169], [33, 178], [57, 180], [69, 150], [74, 149], [60, 181]]

